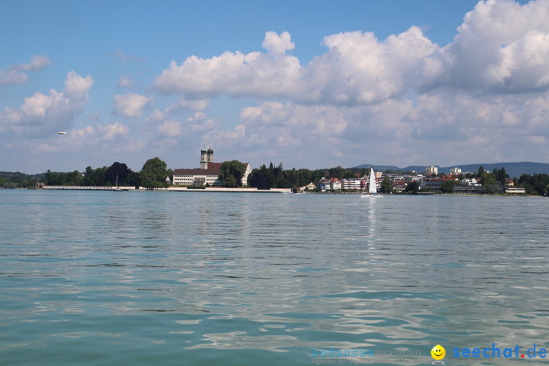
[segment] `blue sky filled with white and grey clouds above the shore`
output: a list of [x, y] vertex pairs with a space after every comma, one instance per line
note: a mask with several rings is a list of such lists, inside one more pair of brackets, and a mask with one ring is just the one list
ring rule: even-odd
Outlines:
[[[0, 2], [0, 171], [549, 162], [549, 0]], [[66, 131], [66, 135], [57, 132]]]

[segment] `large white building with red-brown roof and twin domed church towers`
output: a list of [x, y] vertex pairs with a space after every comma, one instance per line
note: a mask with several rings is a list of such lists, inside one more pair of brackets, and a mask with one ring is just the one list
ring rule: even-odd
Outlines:
[[[251, 173], [249, 163], [245, 163], [246, 172], [242, 177], [242, 185], [248, 185], [248, 175]], [[221, 185], [219, 178], [221, 163], [214, 162], [214, 150], [206, 147], [200, 150], [200, 168], [173, 170], [173, 184], [183, 185]]]

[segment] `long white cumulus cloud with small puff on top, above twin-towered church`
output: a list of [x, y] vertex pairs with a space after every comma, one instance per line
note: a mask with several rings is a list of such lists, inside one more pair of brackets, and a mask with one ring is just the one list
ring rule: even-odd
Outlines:
[[372, 104], [397, 97], [417, 82], [422, 60], [438, 48], [418, 27], [378, 41], [373, 33], [327, 36], [328, 52], [302, 67], [287, 54], [288, 32], [267, 32], [266, 53], [225, 52], [219, 57], [170, 63], [154, 82], [163, 94], [248, 96], [338, 105]]

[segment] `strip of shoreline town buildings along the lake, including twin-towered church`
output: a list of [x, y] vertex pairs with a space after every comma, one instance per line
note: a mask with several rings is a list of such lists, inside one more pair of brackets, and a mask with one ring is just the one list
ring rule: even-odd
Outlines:
[[[161, 161], [158, 157], [150, 159], [143, 166], [143, 171], [149, 162], [154, 161], [160, 165], [164, 165], [163, 173], [160, 175], [157, 173], [156, 177], [152, 180], [157, 180], [160, 184], [116, 184], [116, 185], [93, 185], [93, 184], [46, 184], [37, 182], [35, 189], [54, 189], [54, 190], [155, 190], [155, 191], [175, 191], [175, 192], [257, 192], [257, 193], [279, 193], [279, 192], [294, 192], [294, 193], [360, 193], [367, 189], [370, 184], [371, 178], [369, 177], [369, 169], [365, 168], [351, 168], [345, 170], [340, 168], [341, 172], [331, 173], [325, 171], [322, 178], [312, 179], [308, 184], [293, 184], [292, 188], [288, 188], [289, 181], [286, 182], [286, 187], [273, 187], [272, 185], [267, 187], [266, 183], [253, 184], [254, 174], [268, 174], [270, 171], [277, 170], [277, 174], [283, 174], [282, 165], [278, 168], [273, 168], [272, 164], [268, 170], [265, 166], [262, 166], [261, 170], [251, 170], [249, 163], [240, 163], [236, 160], [231, 162], [214, 162], [214, 150], [206, 149], [205, 147], [200, 150], [200, 167], [199, 168], [177, 168], [172, 171], [166, 170], [165, 162]], [[236, 162], [240, 165], [240, 172], [237, 172], [231, 178], [234, 184], [227, 187], [226, 179], [227, 174], [223, 175], [221, 170], [222, 166], [226, 163]], [[126, 167], [125, 164], [114, 163], [113, 166], [119, 165]], [[113, 167], [111, 166], [111, 167]], [[242, 168], [243, 167], [243, 168]], [[99, 168], [98, 168], [99, 169]], [[127, 167], [126, 167], [127, 169]], [[334, 168], [334, 170], [337, 168]], [[129, 171], [129, 170], [128, 170]], [[143, 172], [142, 171], [142, 172]], [[295, 171], [295, 169], [293, 170]], [[350, 172], [354, 171], [354, 172]], [[130, 171], [131, 172], [131, 171]], [[167, 172], [167, 173], [166, 173]], [[48, 173], [51, 173], [48, 171]], [[46, 174], [48, 174], [46, 173]], [[75, 172], [80, 174], [78, 172]], [[86, 168], [86, 174], [93, 173], [91, 167]], [[133, 172], [132, 172], [133, 173]], [[85, 177], [86, 174], [81, 174]], [[136, 173], [135, 173], [136, 174]], [[230, 173], [233, 174], [233, 173]], [[146, 174], [144, 174], [145, 176]], [[337, 177], [339, 175], [340, 177]], [[523, 174], [524, 175], [524, 174]], [[526, 174], [528, 175], [528, 174]], [[535, 174], [534, 174], [535, 175]], [[542, 179], [546, 178], [547, 174], [542, 175]], [[163, 177], [165, 182], [163, 182]], [[238, 178], [237, 178], [237, 177]], [[328, 178], [326, 177], [328, 176]], [[347, 176], [341, 178], [341, 176]], [[392, 170], [377, 171], [374, 174], [375, 184], [377, 191], [385, 194], [508, 194], [508, 195], [526, 195], [532, 194], [531, 189], [526, 189], [525, 184], [521, 184], [521, 179], [511, 179], [505, 172], [505, 167], [501, 169], [495, 168], [492, 173], [484, 170], [482, 166], [479, 166], [478, 170], [472, 172], [464, 172], [460, 167], [451, 168], [449, 174], [439, 174], [438, 167], [428, 166], [425, 168], [425, 172], [419, 173], [416, 171], [401, 172]], [[47, 178], [47, 177], [45, 177]], [[264, 177], [265, 178], [265, 177]], [[47, 179], [51, 180], [51, 179]], [[150, 180], [150, 178], [149, 178]], [[265, 180], [265, 179], [264, 179]], [[316, 182], [315, 182], [316, 180]], [[545, 179], [549, 180], [549, 179]], [[85, 179], [83, 179], [86, 182]], [[142, 178], [142, 182], [146, 179]], [[251, 181], [251, 185], [250, 185]], [[301, 180], [302, 181], [302, 180]], [[116, 182], [118, 182], [118, 175], [116, 175]], [[547, 182], [549, 183], [549, 182]], [[291, 184], [291, 183], [290, 183]], [[520, 185], [519, 185], [520, 184]], [[17, 188], [17, 187], [11, 187]], [[30, 188], [30, 187], [27, 187]], [[539, 195], [549, 195], [549, 184], [547, 187], [541, 190]]]

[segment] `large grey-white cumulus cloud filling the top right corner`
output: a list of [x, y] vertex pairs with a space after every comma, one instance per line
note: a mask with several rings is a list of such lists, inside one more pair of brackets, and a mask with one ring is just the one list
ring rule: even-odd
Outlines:
[[452, 43], [425, 62], [421, 87], [497, 94], [549, 88], [549, 2], [480, 1]]

